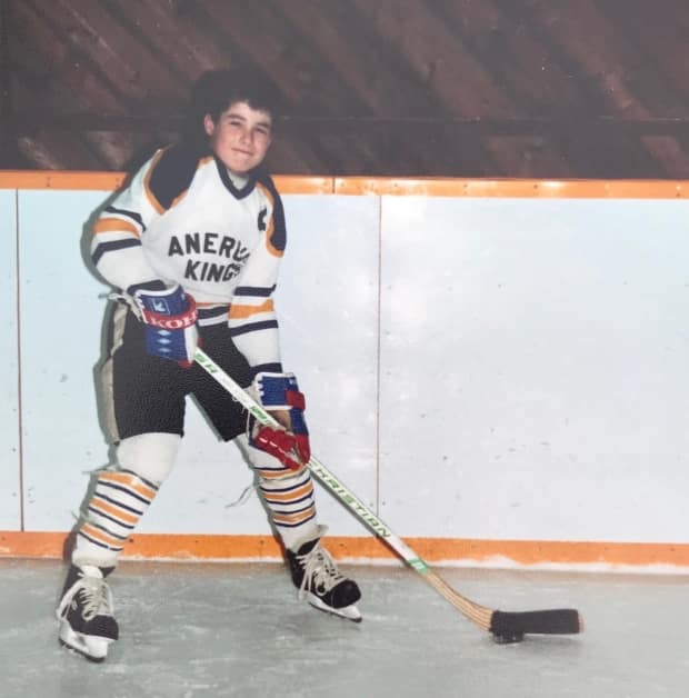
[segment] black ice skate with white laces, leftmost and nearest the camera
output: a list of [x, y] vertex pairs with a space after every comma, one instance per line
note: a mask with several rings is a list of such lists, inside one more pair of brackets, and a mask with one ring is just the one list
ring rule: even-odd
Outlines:
[[108, 571], [72, 565], [57, 610], [60, 644], [91, 661], [102, 661], [119, 635], [112, 594], [104, 579]]

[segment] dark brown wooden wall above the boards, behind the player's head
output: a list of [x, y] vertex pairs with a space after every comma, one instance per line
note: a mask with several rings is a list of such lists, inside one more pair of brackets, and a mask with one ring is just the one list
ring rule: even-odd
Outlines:
[[0, 0], [0, 169], [129, 169], [237, 66], [276, 173], [689, 179], [688, 0]]

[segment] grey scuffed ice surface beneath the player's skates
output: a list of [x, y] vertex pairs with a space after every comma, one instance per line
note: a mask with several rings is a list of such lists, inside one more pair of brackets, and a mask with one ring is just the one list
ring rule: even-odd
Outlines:
[[689, 577], [440, 568], [491, 608], [573, 606], [586, 631], [500, 646], [409, 569], [341, 566], [359, 625], [296, 599], [278, 564], [122, 562], [104, 664], [60, 648], [58, 561], [0, 560], [2, 698], [685, 698]]

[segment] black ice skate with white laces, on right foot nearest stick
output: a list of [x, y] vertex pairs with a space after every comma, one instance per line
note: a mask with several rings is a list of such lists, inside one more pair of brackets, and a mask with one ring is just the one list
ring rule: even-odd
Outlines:
[[356, 602], [361, 598], [357, 582], [348, 579], [337, 568], [330, 554], [321, 547], [326, 528], [320, 526], [316, 537], [302, 542], [297, 551], [287, 550], [292, 581], [299, 589], [299, 598], [319, 610], [359, 622], [361, 614]]

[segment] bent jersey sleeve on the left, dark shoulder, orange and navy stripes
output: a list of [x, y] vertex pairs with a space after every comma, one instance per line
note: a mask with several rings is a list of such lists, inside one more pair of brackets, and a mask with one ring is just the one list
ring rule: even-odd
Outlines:
[[197, 163], [180, 147], [158, 150], [103, 209], [93, 226], [91, 259], [106, 281], [126, 290], [158, 279], [141, 239], [189, 188]]

